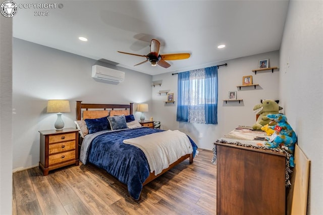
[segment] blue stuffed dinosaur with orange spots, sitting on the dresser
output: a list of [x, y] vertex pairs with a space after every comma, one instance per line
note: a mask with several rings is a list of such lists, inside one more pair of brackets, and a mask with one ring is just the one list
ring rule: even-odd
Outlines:
[[287, 118], [282, 114], [268, 114], [267, 118], [274, 120], [277, 125], [268, 126], [275, 130], [275, 133], [272, 134], [271, 138], [267, 138], [268, 142], [265, 142], [265, 145], [268, 148], [282, 148], [287, 151], [291, 157], [289, 160], [289, 166], [294, 167], [294, 150], [295, 143], [297, 142], [296, 133], [293, 131], [292, 127], [288, 124]]

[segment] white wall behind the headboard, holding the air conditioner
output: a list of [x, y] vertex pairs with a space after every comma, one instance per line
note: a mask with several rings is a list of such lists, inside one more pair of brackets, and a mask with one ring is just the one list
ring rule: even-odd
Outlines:
[[[65, 127], [75, 127], [76, 100], [85, 103], [140, 103], [151, 101], [151, 76], [125, 72], [118, 85], [91, 78], [93, 59], [14, 38], [13, 40], [13, 169], [37, 166], [39, 130], [55, 129], [56, 114], [47, 114], [48, 99], [69, 99], [71, 113], [64, 113]], [[136, 105], [134, 105], [136, 110]], [[140, 113], [135, 113], [139, 119]], [[149, 115], [149, 113], [147, 113]]]

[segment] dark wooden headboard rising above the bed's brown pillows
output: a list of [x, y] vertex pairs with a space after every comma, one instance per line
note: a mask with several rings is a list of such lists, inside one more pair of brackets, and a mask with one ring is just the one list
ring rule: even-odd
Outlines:
[[129, 114], [133, 114], [133, 103], [129, 104], [93, 104], [82, 103], [76, 101], [76, 120], [81, 120], [82, 110], [89, 111], [89, 109], [101, 110], [129, 110]]

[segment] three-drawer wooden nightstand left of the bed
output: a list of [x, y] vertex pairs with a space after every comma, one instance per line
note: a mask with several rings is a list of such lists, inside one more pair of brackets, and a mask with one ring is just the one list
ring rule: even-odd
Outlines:
[[79, 130], [75, 128], [66, 128], [61, 131], [39, 131], [39, 168], [43, 171], [44, 176], [47, 176], [50, 170], [72, 164], [79, 166], [78, 132]]

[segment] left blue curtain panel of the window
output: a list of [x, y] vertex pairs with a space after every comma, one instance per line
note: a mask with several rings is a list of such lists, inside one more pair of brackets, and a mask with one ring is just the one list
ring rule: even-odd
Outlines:
[[190, 72], [178, 73], [177, 121], [188, 122]]

